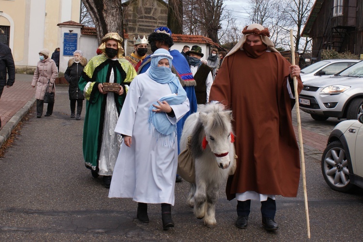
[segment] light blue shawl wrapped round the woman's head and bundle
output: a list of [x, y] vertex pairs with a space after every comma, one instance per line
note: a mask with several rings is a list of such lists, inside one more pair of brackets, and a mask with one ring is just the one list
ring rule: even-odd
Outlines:
[[[160, 66], [158, 62], [162, 59], [169, 61], [170, 67]], [[158, 83], [168, 84], [173, 95], [161, 97], [158, 101], [166, 101], [170, 106], [182, 104], [186, 99], [186, 92], [182, 88], [179, 79], [171, 72], [173, 57], [169, 54], [169, 51], [165, 49], [157, 49], [153, 55], [151, 55], [151, 66], [147, 71], [148, 76]], [[176, 94], [176, 95], [175, 95]], [[157, 101], [153, 103], [159, 106]], [[154, 128], [154, 134], [156, 139], [159, 137], [164, 138], [164, 144], [172, 144], [175, 142], [176, 136], [176, 124], [172, 124], [167, 118], [167, 114], [164, 112], [156, 113], [152, 110], [156, 109], [154, 106], [149, 107], [149, 131]]]

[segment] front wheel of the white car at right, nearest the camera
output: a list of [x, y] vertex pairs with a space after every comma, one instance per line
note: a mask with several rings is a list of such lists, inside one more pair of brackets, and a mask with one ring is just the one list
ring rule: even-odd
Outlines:
[[333, 141], [325, 148], [321, 172], [326, 183], [336, 191], [348, 192], [354, 187], [349, 180], [347, 155], [340, 141]]

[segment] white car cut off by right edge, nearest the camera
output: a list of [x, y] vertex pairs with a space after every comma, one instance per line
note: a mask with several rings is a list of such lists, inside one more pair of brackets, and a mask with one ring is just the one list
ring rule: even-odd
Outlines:
[[321, 157], [321, 171], [336, 191], [363, 188], [363, 114], [334, 127]]

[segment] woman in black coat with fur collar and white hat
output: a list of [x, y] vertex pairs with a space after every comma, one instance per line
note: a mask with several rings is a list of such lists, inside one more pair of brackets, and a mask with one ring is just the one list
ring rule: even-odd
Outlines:
[[[81, 78], [83, 68], [87, 64], [87, 59], [83, 57], [82, 51], [76, 50], [73, 53], [74, 58], [68, 61], [67, 70], [64, 73], [65, 79], [69, 82], [69, 100], [71, 100], [71, 118], [81, 119], [83, 107], [83, 90], [78, 87], [78, 81]], [[77, 115], [76, 115], [77, 102]]]

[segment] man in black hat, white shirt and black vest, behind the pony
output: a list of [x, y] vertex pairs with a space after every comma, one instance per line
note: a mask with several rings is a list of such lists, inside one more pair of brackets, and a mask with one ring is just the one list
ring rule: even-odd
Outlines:
[[186, 55], [189, 57], [188, 62], [190, 70], [197, 82], [195, 90], [197, 106], [200, 108], [201, 105], [205, 105], [209, 102], [209, 92], [211, 91], [213, 83], [212, 68], [201, 61], [204, 54], [202, 53], [202, 48], [200, 46], [193, 45], [192, 49], [186, 52]]

